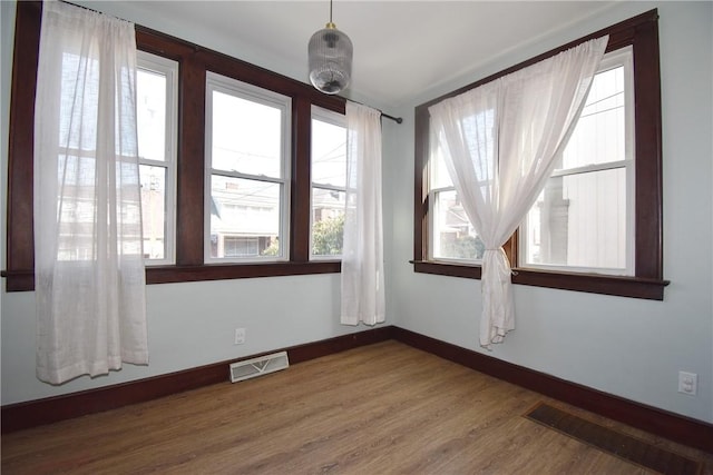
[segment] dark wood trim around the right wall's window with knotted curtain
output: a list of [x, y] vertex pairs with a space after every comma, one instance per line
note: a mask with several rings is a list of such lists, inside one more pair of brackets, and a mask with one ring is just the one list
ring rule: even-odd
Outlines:
[[[416, 108], [416, 175], [413, 210], [413, 269], [417, 273], [453, 277], [480, 278], [479, 266], [428, 260], [428, 108], [443, 99], [458, 96], [498, 77], [522, 69], [555, 56], [589, 39], [609, 36], [607, 52], [627, 46], [634, 50], [635, 106], [635, 275], [618, 277], [597, 274], [544, 271], [517, 267], [517, 246], [506, 249], [514, 263], [512, 283], [578, 290], [623, 297], [663, 300], [663, 190], [662, 190], [662, 131], [661, 131], [661, 73], [658, 66], [658, 12], [656, 9], [596, 31], [557, 49], [449, 92]], [[517, 240], [517, 234], [512, 241]]]

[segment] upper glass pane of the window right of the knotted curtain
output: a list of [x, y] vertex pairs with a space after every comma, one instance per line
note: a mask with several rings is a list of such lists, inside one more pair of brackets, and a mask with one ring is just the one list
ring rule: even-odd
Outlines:
[[626, 159], [624, 67], [595, 76], [557, 169]]

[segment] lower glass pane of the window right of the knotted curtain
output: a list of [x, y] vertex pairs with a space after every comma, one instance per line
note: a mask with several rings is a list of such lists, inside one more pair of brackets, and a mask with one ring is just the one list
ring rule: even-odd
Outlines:
[[626, 269], [626, 168], [553, 177], [527, 217], [527, 264]]

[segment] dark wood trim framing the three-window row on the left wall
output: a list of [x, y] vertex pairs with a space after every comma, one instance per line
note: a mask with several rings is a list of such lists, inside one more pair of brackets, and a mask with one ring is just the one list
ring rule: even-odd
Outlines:
[[[7, 291], [35, 288], [32, 152], [42, 3], [17, 4], [8, 147]], [[176, 265], [146, 269], [148, 284], [339, 273], [341, 263], [310, 261], [311, 106], [344, 113], [343, 98], [197, 44], [136, 26], [140, 50], [178, 62]], [[205, 80], [213, 71], [292, 98], [290, 260], [204, 264]]]

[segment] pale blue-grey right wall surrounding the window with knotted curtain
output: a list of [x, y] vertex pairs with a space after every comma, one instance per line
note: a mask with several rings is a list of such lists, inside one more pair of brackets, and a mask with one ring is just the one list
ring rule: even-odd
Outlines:
[[[711, 2], [624, 2], [416, 98], [423, 103], [537, 53], [658, 8], [663, 101], [664, 301], [516, 286], [517, 329], [490, 356], [713, 422]], [[413, 109], [389, 137], [394, 324], [477, 352], [480, 281], [414, 274]], [[392, 141], [392, 142], [391, 142]], [[486, 352], [487, 353], [487, 352]], [[678, 370], [699, 375], [695, 397]]]

